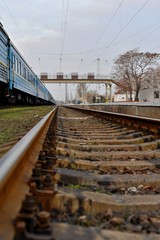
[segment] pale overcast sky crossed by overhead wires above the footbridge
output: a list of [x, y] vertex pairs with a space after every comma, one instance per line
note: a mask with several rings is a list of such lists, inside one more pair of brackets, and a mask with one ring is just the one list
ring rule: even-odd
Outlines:
[[160, 0], [0, 0], [0, 21], [37, 75], [109, 76], [119, 54], [160, 52]]

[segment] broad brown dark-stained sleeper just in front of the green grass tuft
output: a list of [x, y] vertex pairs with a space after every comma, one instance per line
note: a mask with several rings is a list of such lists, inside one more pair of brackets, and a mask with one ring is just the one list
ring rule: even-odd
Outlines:
[[100, 214], [108, 209], [112, 211], [158, 210], [160, 200], [156, 195], [107, 195], [99, 192], [80, 191], [71, 188], [61, 188], [52, 199], [52, 208], [61, 212], [80, 214]]

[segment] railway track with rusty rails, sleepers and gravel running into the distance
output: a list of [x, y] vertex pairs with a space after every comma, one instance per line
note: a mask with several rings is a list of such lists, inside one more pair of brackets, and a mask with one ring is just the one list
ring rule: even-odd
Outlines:
[[46, 119], [23, 163], [0, 162], [1, 239], [159, 239], [160, 120], [63, 107]]

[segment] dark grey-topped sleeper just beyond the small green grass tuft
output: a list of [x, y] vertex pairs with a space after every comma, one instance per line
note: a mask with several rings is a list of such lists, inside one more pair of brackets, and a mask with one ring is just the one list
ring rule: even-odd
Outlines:
[[72, 169], [57, 169], [55, 179], [62, 183], [82, 185], [82, 186], [103, 186], [110, 189], [112, 186], [117, 188], [130, 188], [132, 186], [160, 186], [159, 174], [112, 174], [96, 175], [85, 171], [75, 171]]

